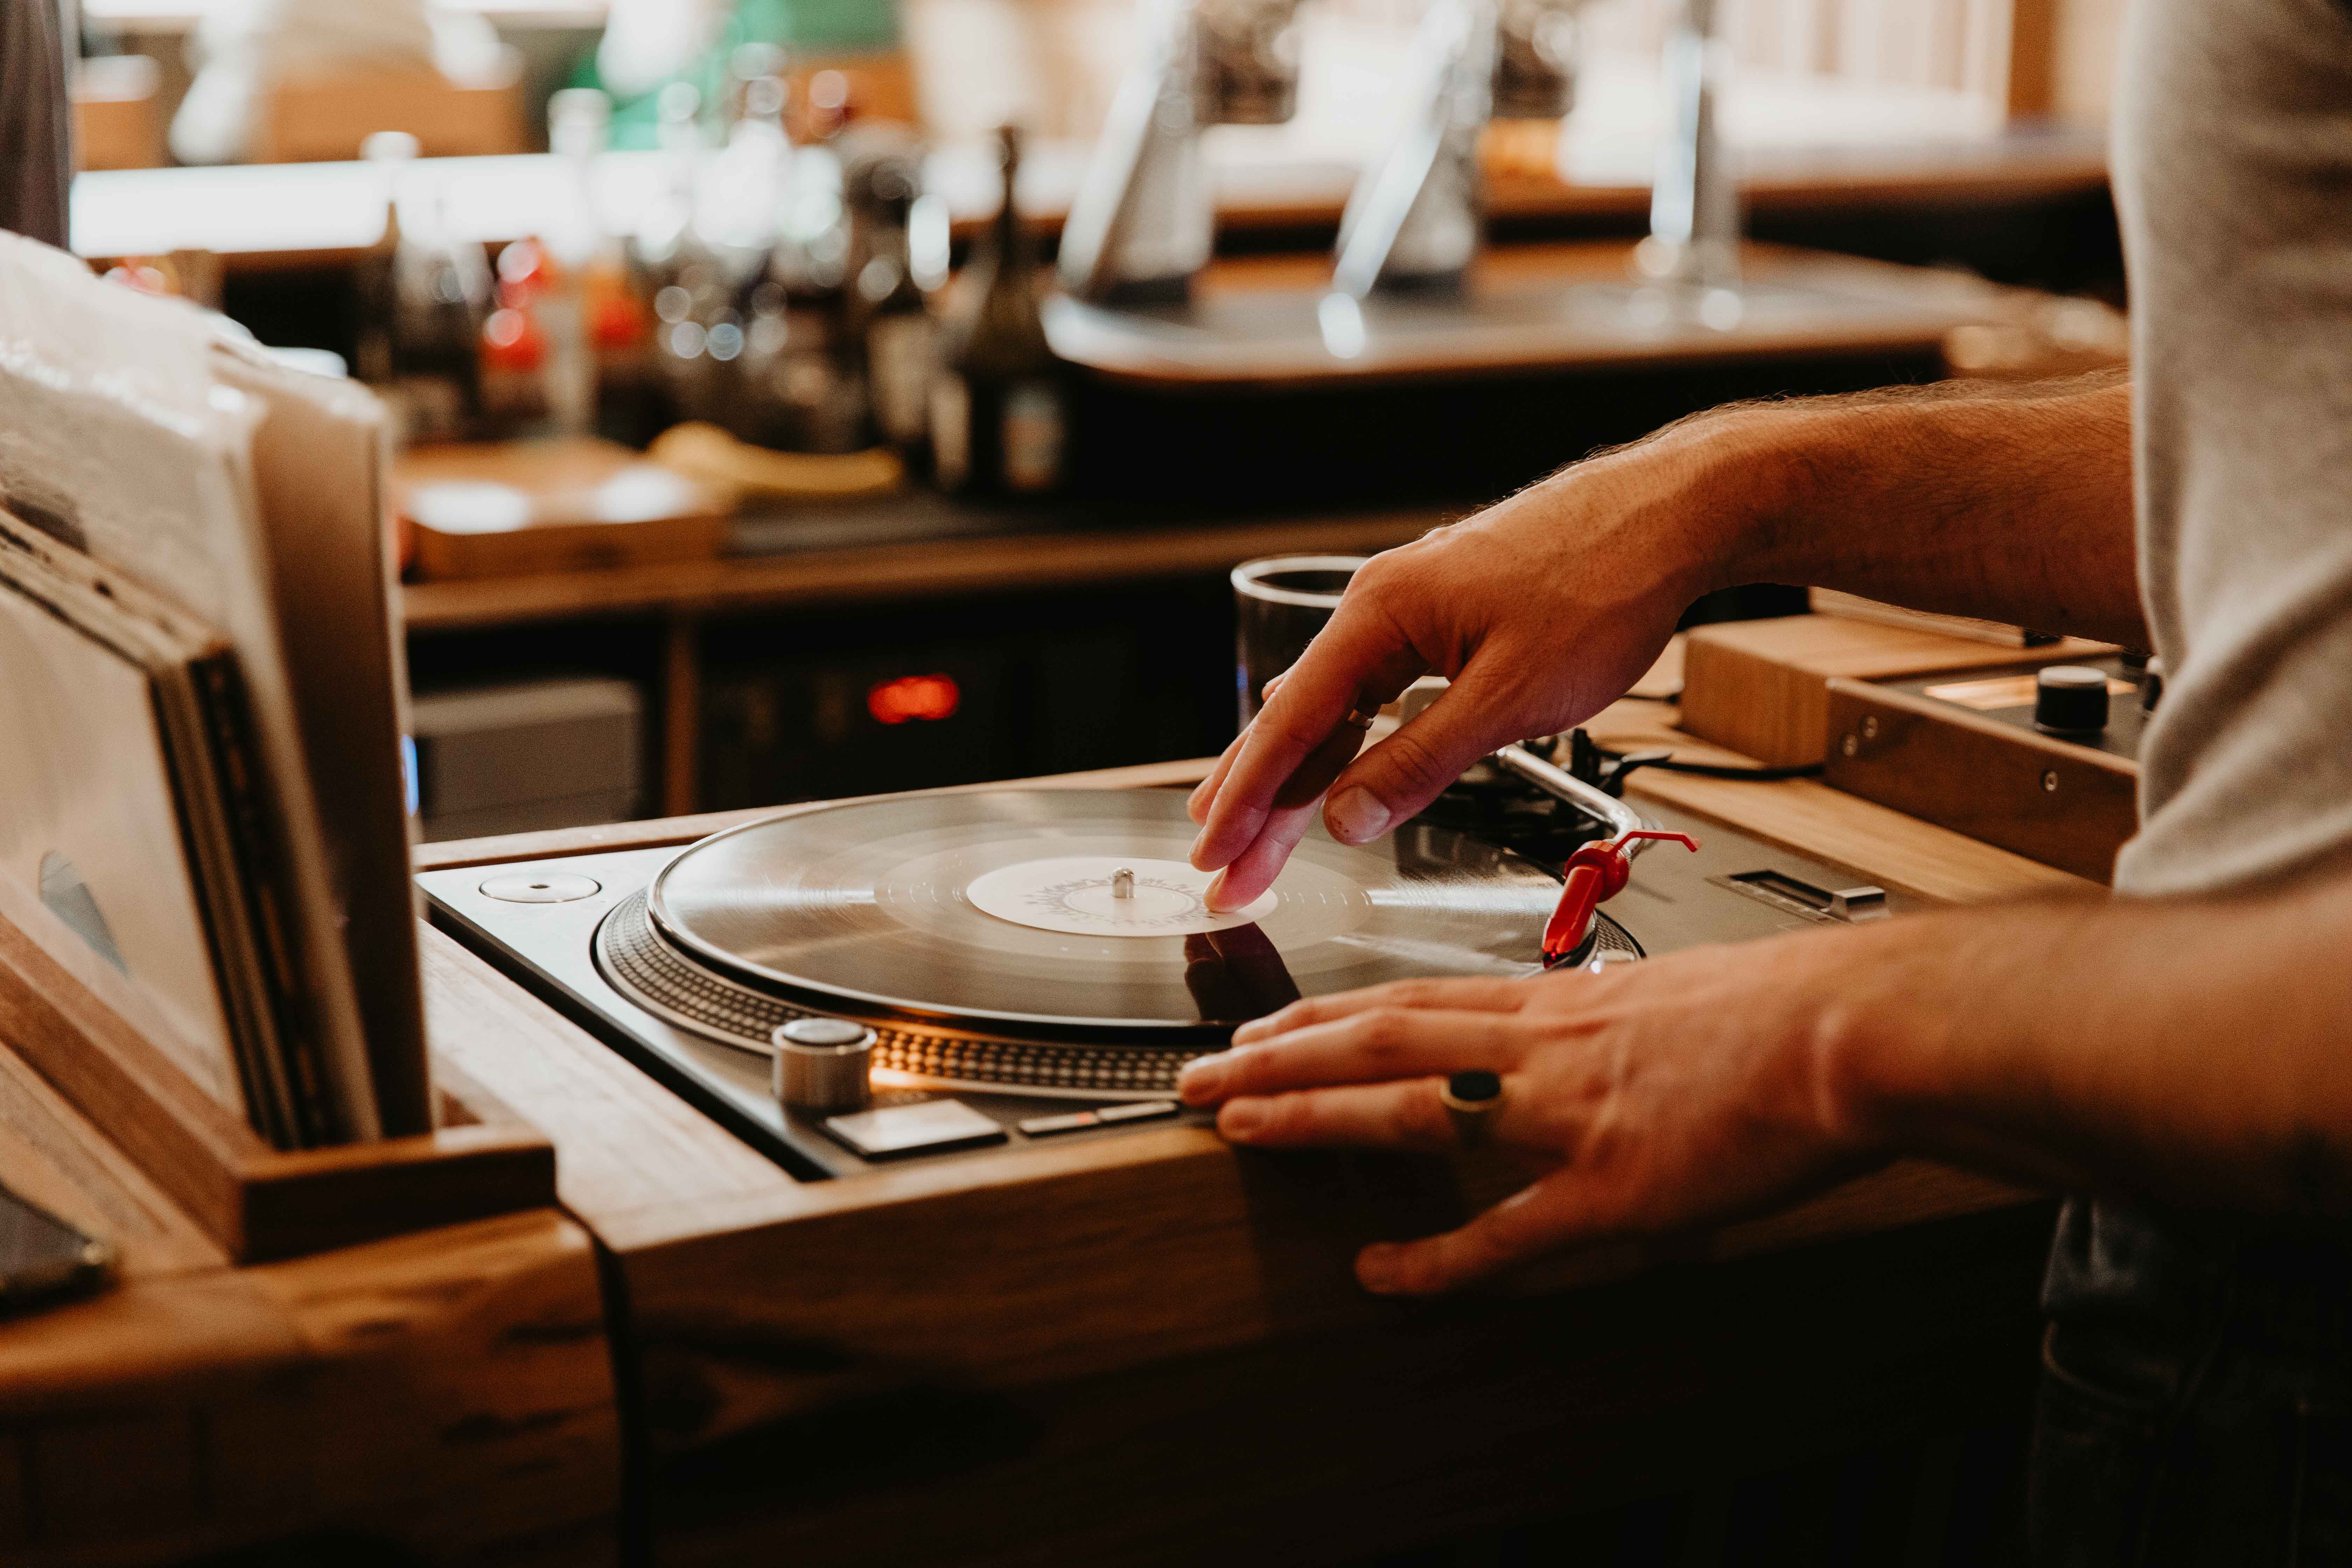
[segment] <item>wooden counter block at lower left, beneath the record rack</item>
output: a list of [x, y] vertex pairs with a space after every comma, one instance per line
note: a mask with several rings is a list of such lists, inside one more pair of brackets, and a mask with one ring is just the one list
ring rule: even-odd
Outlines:
[[141, 1265], [0, 1321], [0, 1559], [21, 1568], [268, 1542], [612, 1563], [619, 1469], [595, 1258], [546, 1208], [252, 1269]]

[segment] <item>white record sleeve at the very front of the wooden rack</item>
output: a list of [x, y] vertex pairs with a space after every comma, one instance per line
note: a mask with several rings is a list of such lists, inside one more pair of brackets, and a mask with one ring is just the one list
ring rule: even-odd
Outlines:
[[245, 1114], [148, 675], [0, 588], [0, 914]]

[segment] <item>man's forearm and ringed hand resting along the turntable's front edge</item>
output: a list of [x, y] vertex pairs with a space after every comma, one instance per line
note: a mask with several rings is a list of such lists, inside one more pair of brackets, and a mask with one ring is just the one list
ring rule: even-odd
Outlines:
[[1296, 1001], [1183, 1098], [1261, 1147], [1456, 1147], [1444, 1077], [1501, 1074], [1534, 1187], [1371, 1246], [1428, 1293], [1559, 1246], [1722, 1225], [1891, 1154], [2063, 1192], [2352, 1227], [2352, 875], [2227, 900], [2065, 898], [1693, 947], [1604, 973]]

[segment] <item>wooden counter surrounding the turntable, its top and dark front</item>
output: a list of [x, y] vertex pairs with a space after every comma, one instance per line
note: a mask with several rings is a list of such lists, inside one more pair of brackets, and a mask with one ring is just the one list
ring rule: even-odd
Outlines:
[[[1929, 896], [2058, 877], [1809, 780], [1693, 809]], [[1160, 1126], [797, 1182], [442, 933], [426, 973], [445, 1060], [555, 1140], [612, 1253], [661, 1561], [1348, 1561], [1955, 1432], [2030, 1385], [2049, 1215], [1962, 1173], [1896, 1166], [1670, 1269], [1588, 1253], [1534, 1295], [1414, 1307], [1362, 1295], [1355, 1248], [1498, 1168]]]

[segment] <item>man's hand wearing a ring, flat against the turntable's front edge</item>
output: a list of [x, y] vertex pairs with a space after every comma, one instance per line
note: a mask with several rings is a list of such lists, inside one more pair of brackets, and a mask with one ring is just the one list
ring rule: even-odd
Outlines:
[[1223, 1105], [1218, 1131], [1244, 1145], [1451, 1150], [1444, 1077], [1501, 1074], [1494, 1143], [1552, 1171], [1456, 1232], [1357, 1258], [1369, 1291], [1449, 1291], [1562, 1246], [1759, 1213], [1884, 1159], [1818, 1027], [1867, 936], [1298, 1001], [1192, 1063], [1183, 1098]]

